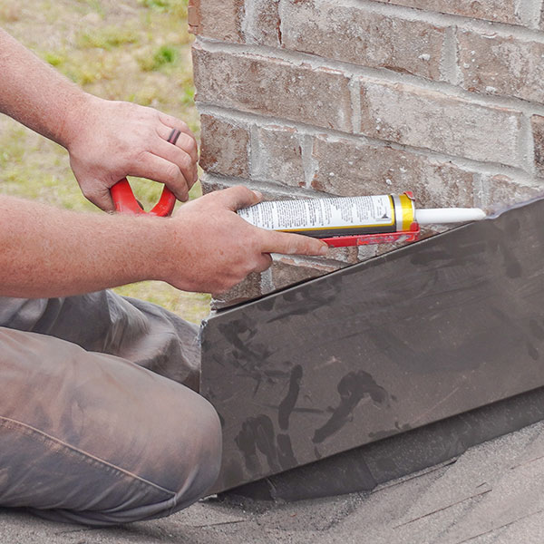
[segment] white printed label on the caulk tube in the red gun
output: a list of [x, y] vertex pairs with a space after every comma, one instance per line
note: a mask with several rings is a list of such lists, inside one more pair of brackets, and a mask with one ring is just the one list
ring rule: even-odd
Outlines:
[[275, 200], [239, 209], [238, 215], [256, 227], [315, 238], [397, 230], [391, 195]]

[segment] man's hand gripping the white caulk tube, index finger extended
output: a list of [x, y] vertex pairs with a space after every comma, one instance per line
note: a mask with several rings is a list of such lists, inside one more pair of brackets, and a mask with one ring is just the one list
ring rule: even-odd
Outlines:
[[257, 228], [238, 216], [237, 209], [260, 199], [252, 190], [233, 187], [193, 200], [164, 219], [171, 250], [164, 254], [162, 279], [185, 291], [219, 294], [270, 267], [270, 253], [326, 255], [325, 242], [316, 238]]

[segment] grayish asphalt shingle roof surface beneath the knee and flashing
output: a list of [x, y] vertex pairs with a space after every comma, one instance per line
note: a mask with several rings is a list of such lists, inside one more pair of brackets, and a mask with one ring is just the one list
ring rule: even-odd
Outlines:
[[544, 422], [370, 493], [274, 504], [201, 501], [170, 518], [87, 529], [0, 511], [9, 544], [496, 544], [544, 541]]

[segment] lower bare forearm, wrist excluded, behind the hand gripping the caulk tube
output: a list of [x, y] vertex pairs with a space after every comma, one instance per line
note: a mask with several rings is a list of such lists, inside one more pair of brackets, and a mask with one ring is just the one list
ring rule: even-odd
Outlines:
[[0, 198], [0, 296], [68, 296], [161, 279], [170, 219], [83, 214]]

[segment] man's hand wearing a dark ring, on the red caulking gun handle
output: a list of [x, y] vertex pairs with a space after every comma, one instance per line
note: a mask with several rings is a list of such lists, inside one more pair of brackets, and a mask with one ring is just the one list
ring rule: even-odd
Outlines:
[[[62, 140], [83, 195], [105, 211], [114, 209], [110, 189], [125, 176], [164, 183], [182, 201], [198, 178], [197, 141], [179, 119], [130, 102], [88, 95], [80, 123]], [[167, 140], [179, 130], [175, 145]]]

